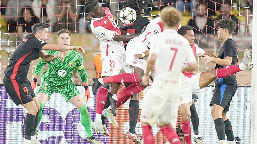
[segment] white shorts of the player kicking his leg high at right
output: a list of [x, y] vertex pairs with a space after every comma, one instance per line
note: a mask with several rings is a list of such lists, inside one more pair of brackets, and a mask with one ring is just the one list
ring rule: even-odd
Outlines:
[[205, 90], [205, 88], [200, 89], [199, 87], [200, 74], [201, 72], [193, 75], [191, 78], [184, 77], [181, 79], [179, 105], [184, 103], [192, 103], [192, 95]]

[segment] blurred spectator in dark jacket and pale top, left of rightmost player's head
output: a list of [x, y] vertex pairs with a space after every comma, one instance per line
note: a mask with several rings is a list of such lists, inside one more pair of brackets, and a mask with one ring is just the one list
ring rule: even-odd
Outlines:
[[195, 34], [201, 32], [204, 34], [214, 33], [213, 24], [214, 20], [210, 17], [207, 17], [207, 8], [206, 4], [198, 4], [196, 6], [197, 16], [193, 17], [189, 20], [189, 26], [193, 27], [193, 31]]

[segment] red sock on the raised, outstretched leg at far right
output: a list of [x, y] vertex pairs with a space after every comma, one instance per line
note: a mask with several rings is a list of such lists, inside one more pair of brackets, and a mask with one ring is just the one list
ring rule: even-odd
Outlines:
[[224, 68], [217, 68], [215, 71], [216, 78], [225, 78], [233, 75], [234, 73], [240, 72], [239, 65], [227, 66]]

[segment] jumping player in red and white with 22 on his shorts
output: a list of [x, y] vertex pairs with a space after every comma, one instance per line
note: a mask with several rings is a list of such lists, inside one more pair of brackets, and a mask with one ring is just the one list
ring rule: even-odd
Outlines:
[[[125, 49], [123, 41], [138, 36], [139, 34], [129, 35], [117, 26], [110, 10], [95, 0], [88, 0], [85, 3], [84, 11], [89, 11], [92, 17], [92, 32], [100, 40], [100, 51], [102, 61], [102, 76], [109, 77], [117, 75], [122, 69], [130, 73], [129, 68], [125, 65]], [[111, 86], [111, 89], [110, 89]], [[102, 127], [102, 110], [104, 108], [106, 97], [112, 96], [119, 89], [119, 84], [103, 84], [96, 95], [96, 116], [93, 123], [93, 129], [96, 132], [105, 133]], [[109, 91], [110, 89], [110, 91]], [[93, 92], [94, 95], [96, 91]]]

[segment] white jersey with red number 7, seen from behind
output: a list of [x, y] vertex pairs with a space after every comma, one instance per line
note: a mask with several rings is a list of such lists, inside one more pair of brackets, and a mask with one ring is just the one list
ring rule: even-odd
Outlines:
[[152, 89], [157, 91], [178, 90], [181, 87], [180, 74], [183, 62], [196, 63], [188, 40], [174, 29], [166, 29], [152, 36], [149, 56], [152, 54], [157, 55], [152, 84]]

